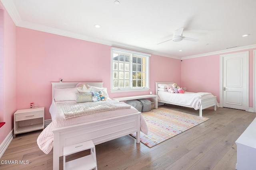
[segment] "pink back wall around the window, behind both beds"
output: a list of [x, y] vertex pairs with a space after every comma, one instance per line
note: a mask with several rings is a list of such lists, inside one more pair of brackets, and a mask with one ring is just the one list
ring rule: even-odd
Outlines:
[[[110, 92], [111, 46], [22, 27], [16, 28], [16, 45], [17, 109], [28, 108], [30, 102], [35, 102], [45, 107], [45, 119], [51, 119], [51, 82], [60, 78], [63, 82], [104, 82], [110, 98], [149, 94]], [[179, 83], [180, 69], [179, 60], [152, 55], [150, 91], [154, 93], [156, 81]]]

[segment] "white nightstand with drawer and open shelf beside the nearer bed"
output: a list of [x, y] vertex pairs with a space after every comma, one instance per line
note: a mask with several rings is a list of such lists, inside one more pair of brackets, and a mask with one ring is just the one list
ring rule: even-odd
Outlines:
[[44, 107], [20, 109], [14, 113], [14, 138], [16, 134], [44, 129]]

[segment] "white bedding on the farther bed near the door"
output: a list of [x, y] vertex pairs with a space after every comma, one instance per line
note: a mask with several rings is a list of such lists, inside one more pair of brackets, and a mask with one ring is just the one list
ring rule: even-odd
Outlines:
[[192, 92], [185, 92], [182, 93], [169, 93], [158, 91], [158, 100], [174, 103], [174, 104], [182, 104], [186, 106], [191, 106], [195, 110], [200, 108], [200, 99], [214, 97], [211, 93], [207, 92], [199, 92], [199, 93], [192, 93]]

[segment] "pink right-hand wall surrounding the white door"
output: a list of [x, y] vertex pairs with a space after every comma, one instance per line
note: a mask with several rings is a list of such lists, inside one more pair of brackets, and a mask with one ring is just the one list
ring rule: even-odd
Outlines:
[[[253, 107], [253, 50], [243, 50], [249, 51], [249, 107]], [[182, 86], [191, 92], [211, 92], [220, 102], [220, 55], [223, 54], [183, 60]]]

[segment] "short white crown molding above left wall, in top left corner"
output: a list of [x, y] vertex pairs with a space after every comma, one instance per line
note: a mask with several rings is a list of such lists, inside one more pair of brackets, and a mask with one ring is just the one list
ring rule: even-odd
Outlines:
[[18, 23], [20, 23], [21, 18], [20, 18], [20, 14], [18, 13], [18, 10], [16, 8], [16, 6], [14, 5], [12, 0], [1, 0], [4, 8], [6, 9], [6, 11], [8, 12], [8, 14], [10, 15], [10, 17], [12, 18], [12, 21], [14, 22], [14, 24], [17, 26]]

